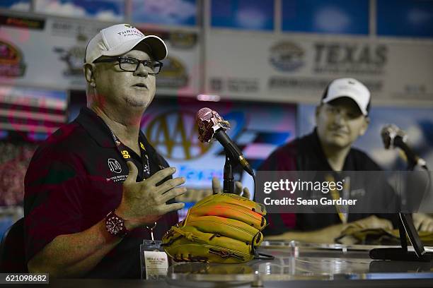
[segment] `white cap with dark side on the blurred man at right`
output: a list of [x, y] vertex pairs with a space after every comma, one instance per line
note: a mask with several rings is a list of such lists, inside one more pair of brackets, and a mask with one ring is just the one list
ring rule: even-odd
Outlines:
[[364, 84], [354, 78], [333, 80], [323, 94], [322, 103], [328, 103], [340, 97], [349, 97], [358, 104], [365, 116], [369, 114], [370, 91]]

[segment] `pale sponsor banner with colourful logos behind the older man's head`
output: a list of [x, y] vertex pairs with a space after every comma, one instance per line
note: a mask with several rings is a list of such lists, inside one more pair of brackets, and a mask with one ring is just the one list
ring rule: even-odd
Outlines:
[[[88, 40], [114, 23], [0, 15], [0, 83], [39, 88], [85, 88]], [[200, 47], [195, 32], [150, 31], [166, 41], [168, 58], [158, 74], [161, 95], [197, 95]]]

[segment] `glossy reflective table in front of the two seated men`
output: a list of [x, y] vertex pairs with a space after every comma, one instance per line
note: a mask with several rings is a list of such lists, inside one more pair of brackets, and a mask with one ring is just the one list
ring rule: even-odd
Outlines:
[[50, 287], [433, 287], [433, 263], [371, 260], [376, 247], [264, 241], [260, 252], [274, 260], [176, 263], [166, 281], [50, 279]]

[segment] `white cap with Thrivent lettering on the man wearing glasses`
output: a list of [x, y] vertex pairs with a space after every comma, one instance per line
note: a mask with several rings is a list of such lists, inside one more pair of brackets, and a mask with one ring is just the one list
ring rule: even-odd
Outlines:
[[100, 56], [125, 54], [142, 41], [149, 46], [155, 60], [166, 58], [167, 46], [160, 37], [144, 35], [140, 30], [129, 24], [117, 24], [100, 30], [88, 42], [84, 63], [92, 63]]

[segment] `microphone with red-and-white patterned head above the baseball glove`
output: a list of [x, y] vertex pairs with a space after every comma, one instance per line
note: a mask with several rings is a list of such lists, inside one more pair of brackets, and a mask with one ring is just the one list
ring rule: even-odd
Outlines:
[[[230, 159], [236, 164], [241, 164], [243, 169], [254, 176], [253, 169], [247, 162], [238, 146], [226, 134], [226, 129], [230, 128], [229, 121], [225, 121], [219, 114], [207, 107], [200, 109], [195, 117], [198, 125], [199, 140], [201, 142], [211, 142], [217, 139], [228, 153]], [[233, 163], [234, 164], [234, 163]]]

